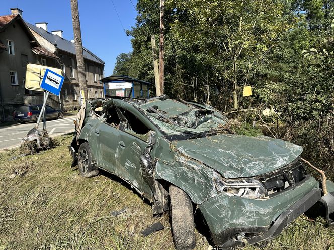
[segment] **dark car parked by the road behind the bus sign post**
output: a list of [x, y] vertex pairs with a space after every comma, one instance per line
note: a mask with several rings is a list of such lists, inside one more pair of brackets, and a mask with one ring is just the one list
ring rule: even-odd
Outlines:
[[[25, 123], [28, 121], [37, 121], [38, 116], [41, 112], [42, 105], [26, 105], [15, 109], [13, 113], [14, 120]], [[46, 105], [45, 107], [46, 119], [61, 119], [63, 117], [63, 112], [61, 110], [55, 109]]]

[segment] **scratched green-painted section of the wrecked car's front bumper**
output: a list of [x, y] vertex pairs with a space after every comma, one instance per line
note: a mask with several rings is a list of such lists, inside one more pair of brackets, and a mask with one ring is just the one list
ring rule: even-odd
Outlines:
[[270, 226], [282, 212], [319, 187], [313, 177], [299, 187], [281, 192], [269, 199], [247, 199], [228, 196], [225, 193], [209, 199], [199, 205], [211, 233], [219, 234], [233, 227]]

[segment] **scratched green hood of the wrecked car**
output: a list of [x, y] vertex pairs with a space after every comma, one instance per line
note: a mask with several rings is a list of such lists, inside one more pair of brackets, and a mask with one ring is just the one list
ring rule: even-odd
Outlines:
[[295, 160], [301, 146], [265, 136], [220, 134], [175, 141], [179, 152], [203, 162], [225, 178], [272, 172]]

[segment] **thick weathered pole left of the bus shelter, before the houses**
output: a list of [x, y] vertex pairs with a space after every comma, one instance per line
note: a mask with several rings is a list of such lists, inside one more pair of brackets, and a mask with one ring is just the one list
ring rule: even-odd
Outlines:
[[[81, 105], [82, 105], [82, 98], [87, 100], [88, 92], [87, 92], [87, 82], [86, 82], [86, 75], [85, 75], [84, 52], [82, 51], [81, 28], [80, 28], [79, 9], [77, 6], [77, 0], [71, 0], [71, 9], [72, 9], [74, 44], [75, 44], [75, 52], [76, 52], [76, 64], [77, 64], [77, 71], [79, 75], [80, 96], [81, 96]], [[82, 96], [82, 94], [84, 96]]]

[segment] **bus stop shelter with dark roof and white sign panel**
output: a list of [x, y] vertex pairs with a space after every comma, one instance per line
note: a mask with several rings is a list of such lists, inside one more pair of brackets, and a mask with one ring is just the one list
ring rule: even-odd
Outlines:
[[151, 83], [124, 75], [112, 75], [101, 79], [105, 96], [149, 98], [148, 87]]

